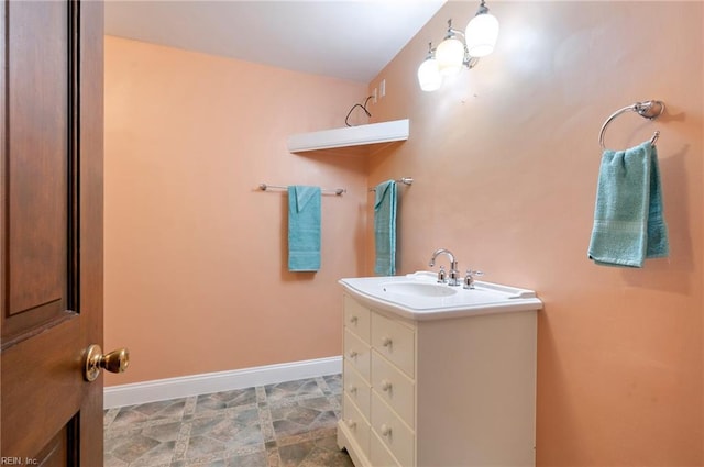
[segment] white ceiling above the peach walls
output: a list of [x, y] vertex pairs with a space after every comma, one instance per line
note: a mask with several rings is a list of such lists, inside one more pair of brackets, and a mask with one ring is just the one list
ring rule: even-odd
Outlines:
[[110, 0], [106, 33], [366, 84], [446, 1]]

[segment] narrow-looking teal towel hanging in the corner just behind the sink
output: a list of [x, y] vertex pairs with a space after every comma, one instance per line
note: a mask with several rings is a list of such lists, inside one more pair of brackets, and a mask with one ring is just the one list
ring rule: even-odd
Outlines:
[[396, 274], [396, 181], [387, 180], [376, 186], [374, 199], [374, 245], [377, 276]]

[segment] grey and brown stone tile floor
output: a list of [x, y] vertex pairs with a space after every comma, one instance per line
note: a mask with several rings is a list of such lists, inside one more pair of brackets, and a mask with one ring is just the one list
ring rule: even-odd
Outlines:
[[353, 467], [340, 375], [106, 410], [105, 467]]

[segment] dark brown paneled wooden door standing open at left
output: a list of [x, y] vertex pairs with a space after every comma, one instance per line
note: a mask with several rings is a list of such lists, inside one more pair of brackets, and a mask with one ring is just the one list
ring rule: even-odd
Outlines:
[[102, 4], [0, 3], [3, 464], [102, 465]]

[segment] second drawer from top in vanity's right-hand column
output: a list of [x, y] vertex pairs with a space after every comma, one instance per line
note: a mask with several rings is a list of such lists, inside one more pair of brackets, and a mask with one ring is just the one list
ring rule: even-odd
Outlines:
[[403, 371], [372, 351], [372, 387], [410, 426], [416, 426], [416, 385]]

